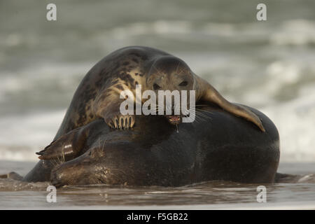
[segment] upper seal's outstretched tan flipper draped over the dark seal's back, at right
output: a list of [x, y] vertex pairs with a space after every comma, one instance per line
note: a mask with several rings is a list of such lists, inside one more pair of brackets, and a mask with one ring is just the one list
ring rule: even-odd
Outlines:
[[251, 121], [257, 125], [262, 132], [265, 132], [265, 128], [263, 127], [260, 118], [258, 118], [255, 113], [246, 109], [244, 106], [228, 102], [228, 100], [226, 100], [212, 85], [207, 83], [206, 80], [203, 80], [195, 74], [194, 78], [196, 83], [195, 90], [197, 101], [201, 99], [205, 102], [213, 102], [214, 104], [218, 104], [218, 106], [221, 106], [221, 108], [225, 111]]

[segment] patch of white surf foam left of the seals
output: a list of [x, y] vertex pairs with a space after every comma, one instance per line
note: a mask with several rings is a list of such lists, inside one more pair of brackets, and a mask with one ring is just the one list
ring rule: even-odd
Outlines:
[[50, 144], [64, 113], [1, 117], [0, 160], [37, 160], [35, 152]]

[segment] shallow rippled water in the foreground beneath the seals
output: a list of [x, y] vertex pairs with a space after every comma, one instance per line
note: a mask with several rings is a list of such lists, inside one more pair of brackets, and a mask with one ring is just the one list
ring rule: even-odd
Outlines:
[[[32, 162], [1, 161], [0, 173], [25, 174]], [[24, 168], [23, 168], [24, 167]], [[294, 167], [294, 171], [290, 168]], [[315, 209], [315, 164], [286, 163], [279, 172], [303, 174], [292, 183], [265, 185], [267, 202], [258, 203], [257, 184], [211, 181], [179, 188], [66, 186], [48, 203], [48, 182], [0, 179], [0, 209]], [[304, 177], [304, 178], [303, 178]], [[300, 181], [298, 181], [300, 180]]]

